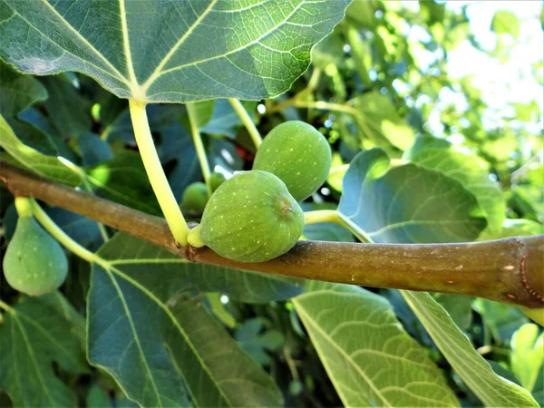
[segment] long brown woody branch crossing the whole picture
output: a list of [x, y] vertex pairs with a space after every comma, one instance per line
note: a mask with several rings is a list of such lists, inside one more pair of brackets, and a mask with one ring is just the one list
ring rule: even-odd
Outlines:
[[164, 219], [40, 179], [5, 163], [0, 166], [0, 180], [15, 196], [42, 199], [194, 262], [364, 287], [454, 293], [544, 307], [544, 235], [425, 245], [299, 241], [282, 257], [246, 264], [219, 257], [209, 248], [177, 248]]

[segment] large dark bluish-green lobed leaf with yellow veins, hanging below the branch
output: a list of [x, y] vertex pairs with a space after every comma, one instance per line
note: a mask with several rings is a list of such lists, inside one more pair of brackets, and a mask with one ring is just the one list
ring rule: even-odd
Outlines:
[[[153, 407], [178, 406], [188, 397], [197, 406], [281, 404], [272, 379], [190, 298], [200, 286], [234, 284], [249, 292], [242, 289], [244, 272], [196, 267], [121, 234], [98, 256], [88, 298], [89, 360], [132, 400]], [[278, 287], [266, 279], [261, 287]]]

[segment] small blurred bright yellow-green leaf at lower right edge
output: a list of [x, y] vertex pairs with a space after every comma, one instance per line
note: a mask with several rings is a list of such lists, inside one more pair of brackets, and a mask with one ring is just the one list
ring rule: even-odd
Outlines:
[[538, 325], [522, 325], [512, 335], [510, 345], [512, 372], [520, 379], [521, 385], [532, 391], [544, 364], [544, 333], [539, 335]]

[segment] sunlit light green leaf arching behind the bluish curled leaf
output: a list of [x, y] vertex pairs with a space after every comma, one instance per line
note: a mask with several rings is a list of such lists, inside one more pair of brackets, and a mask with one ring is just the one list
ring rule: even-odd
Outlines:
[[429, 149], [415, 154], [412, 162], [459, 181], [478, 201], [491, 231], [497, 232], [502, 228], [506, 204], [499, 185], [490, 179], [483, 160], [455, 151]]

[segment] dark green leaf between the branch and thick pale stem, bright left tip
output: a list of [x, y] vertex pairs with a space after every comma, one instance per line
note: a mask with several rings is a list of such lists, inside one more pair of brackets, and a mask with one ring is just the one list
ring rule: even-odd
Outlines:
[[98, 195], [152, 215], [162, 214], [138, 153], [119, 151], [112, 160], [85, 171]]

